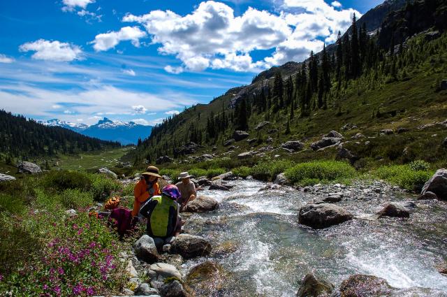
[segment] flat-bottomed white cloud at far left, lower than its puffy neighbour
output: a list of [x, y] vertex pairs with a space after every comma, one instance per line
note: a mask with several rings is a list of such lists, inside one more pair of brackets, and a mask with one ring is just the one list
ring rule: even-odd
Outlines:
[[31, 57], [49, 61], [73, 61], [82, 59], [82, 50], [78, 45], [61, 43], [59, 41], [38, 41], [24, 43], [19, 47], [20, 52], [35, 52]]

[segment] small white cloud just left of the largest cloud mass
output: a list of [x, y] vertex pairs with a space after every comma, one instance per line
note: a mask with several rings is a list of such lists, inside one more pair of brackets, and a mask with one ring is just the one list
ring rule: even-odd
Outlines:
[[123, 27], [119, 31], [98, 34], [91, 43], [94, 44], [93, 48], [96, 52], [101, 52], [115, 48], [121, 41], [131, 41], [135, 47], [139, 47], [140, 38], [144, 38], [145, 36], [147, 36], [146, 32], [136, 26]]

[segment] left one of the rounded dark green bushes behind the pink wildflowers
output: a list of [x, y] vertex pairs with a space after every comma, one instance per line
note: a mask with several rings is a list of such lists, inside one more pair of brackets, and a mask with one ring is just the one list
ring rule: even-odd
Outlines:
[[91, 175], [78, 171], [50, 171], [41, 184], [47, 189], [64, 191], [65, 189], [80, 189], [88, 191], [93, 184]]

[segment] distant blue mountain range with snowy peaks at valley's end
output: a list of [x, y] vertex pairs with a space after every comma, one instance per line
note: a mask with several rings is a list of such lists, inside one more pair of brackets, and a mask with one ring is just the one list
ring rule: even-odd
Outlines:
[[107, 117], [98, 121], [94, 125], [78, 124], [50, 119], [40, 121], [45, 126], [60, 126], [85, 136], [99, 138], [101, 140], [118, 141], [122, 145], [136, 144], [138, 138], [147, 138], [152, 131], [152, 126], [144, 126], [135, 122], [112, 121]]

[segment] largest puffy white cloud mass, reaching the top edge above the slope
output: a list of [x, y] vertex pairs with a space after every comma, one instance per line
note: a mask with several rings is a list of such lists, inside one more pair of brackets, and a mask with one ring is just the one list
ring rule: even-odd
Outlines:
[[[205, 1], [187, 15], [170, 10], [153, 10], [145, 15], [128, 13], [123, 22], [145, 27], [162, 55], [175, 55], [180, 67], [166, 66], [169, 73], [185, 69], [228, 68], [258, 71], [259, 68], [301, 61], [311, 50], [321, 50], [323, 41], [335, 41], [337, 32], [351, 24], [356, 10], [335, 10], [323, 0], [284, 0], [279, 15], [248, 8], [235, 17], [225, 3]], [[274, 53], [254, 61], [254, 50]]]

